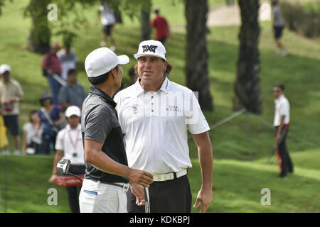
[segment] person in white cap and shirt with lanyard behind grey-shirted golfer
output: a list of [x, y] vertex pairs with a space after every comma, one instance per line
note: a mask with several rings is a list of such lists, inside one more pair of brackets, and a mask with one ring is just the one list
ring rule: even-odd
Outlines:
[[[85, 153], [83, 150], [81, 135], [81, 111], [78, 106], [69, 106], [65, 111], [68, 124], [58, 132], [55, 142], [55, 158], [53, 160], [53, 172], [49, 182], [54, 183], [57, 178], [57, 163], [62, 159], [70, 160], [69, 172], [75, 175], [85, 174]], [[80, 213], [79, 192], [81, 187], [66, 187], [69, 197], [69, 205], [72, 213]]]

